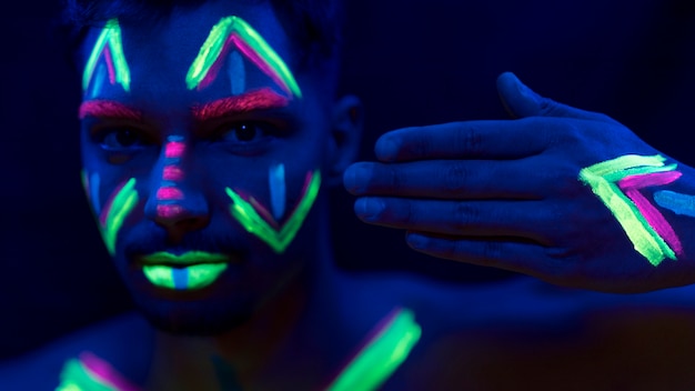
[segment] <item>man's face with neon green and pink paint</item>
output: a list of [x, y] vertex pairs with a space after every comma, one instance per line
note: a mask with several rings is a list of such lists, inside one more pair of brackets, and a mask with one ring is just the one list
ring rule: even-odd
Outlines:
[[245, 319], [319, 245], [329, 97], [268, 4], [113, 19], [83, 52], [83, 182], [135, 302], [174, 331]]

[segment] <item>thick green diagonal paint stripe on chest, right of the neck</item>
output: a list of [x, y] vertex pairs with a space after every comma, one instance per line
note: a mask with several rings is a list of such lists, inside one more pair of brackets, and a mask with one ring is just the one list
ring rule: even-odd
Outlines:
[[405, 361], [422, 329], [412, 311], [395, 317], [355, 355], [328, 388], [330, 391], [375, 390]]

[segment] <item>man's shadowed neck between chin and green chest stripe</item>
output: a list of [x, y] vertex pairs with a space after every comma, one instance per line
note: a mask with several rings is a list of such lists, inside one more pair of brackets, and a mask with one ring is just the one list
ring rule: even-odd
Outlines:
[[321, 242], [318, 265], [298, 272], [244, 324], [214, 337], [158, 332], [147, 389], [316, 389], [325, 382], [373, 322], [343, 321], [341, 303], [351, 289], [329, 241]]

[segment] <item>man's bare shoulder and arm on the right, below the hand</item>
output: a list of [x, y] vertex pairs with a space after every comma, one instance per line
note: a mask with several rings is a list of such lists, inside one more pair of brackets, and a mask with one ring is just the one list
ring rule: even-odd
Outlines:
[[691, 390], [695, 287], [639, 294], [560, 288], [532, 278], [450, 284], [372, 279], [422, 328], [392, 380], [413, 389]]

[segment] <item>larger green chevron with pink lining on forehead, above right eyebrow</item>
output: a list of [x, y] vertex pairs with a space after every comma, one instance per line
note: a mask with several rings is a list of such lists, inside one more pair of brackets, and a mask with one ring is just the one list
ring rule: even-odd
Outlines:
[[222, 18], [210, 31], [185, 77], [188, 88], [200, 90], [212, 83], [220, 68], [220, 61], [226, 57], [232, 46], [236, 47], [286, 93], [302, 98], [302, 91], [282, 58], [258, 31], [235, 16]]

